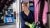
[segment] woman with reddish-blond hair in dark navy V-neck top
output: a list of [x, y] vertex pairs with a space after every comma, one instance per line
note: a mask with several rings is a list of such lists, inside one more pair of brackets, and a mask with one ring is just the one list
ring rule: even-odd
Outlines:
[[33, 12], [29, 10], [29, 3], [28, 2], [22, 2], [22, 11], [21, 11], [21, 22], [22, 22], [22, 28], [29, 28], [29, 26], [25, 25], [25, 23], [32, 24], [34, 22]]

